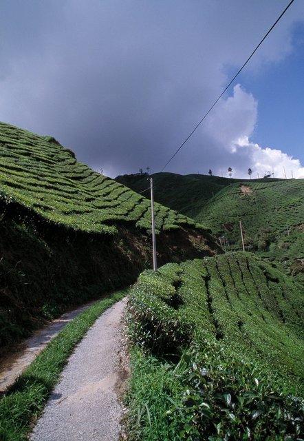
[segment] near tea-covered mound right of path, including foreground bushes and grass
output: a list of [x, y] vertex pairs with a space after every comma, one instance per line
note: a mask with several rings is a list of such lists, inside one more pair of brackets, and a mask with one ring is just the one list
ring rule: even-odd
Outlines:
[[302, 439], [303, 325], [302, 288], [252, 254], [144, 271], [129, 300], [131, 440]]

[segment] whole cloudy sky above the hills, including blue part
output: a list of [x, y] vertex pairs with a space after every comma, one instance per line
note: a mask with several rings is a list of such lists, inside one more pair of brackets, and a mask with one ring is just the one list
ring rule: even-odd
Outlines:
[[[290, 0], [0, 0], [0, 121], [105, 175], [160, 172]], [[164, 169], [304, 178], [294, 0]]]

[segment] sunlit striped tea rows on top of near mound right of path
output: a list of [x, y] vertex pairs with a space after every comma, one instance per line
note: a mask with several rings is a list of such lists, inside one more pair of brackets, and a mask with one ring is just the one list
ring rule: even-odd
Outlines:
[[[149, 314], [155, 320], [158, 314], [169, 314], [170, 320], [177, 314], [180, 320], [182, 314], [202, 340], [224, 341], [236, 353], [262, 360], [270, 369], [280, 365], [285, 376], [304, 379], [304, 299], [292, 279], [243, 253], [169, 264], [159, 273], [140, 276], [147, 320]], [[145, 314], [142, 304], [140, 309]], [[161, 333], [165, 318], [159, 320]]]

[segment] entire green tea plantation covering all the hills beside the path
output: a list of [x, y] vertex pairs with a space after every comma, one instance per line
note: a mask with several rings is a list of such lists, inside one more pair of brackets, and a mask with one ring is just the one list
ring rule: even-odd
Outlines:
[[[1, 350], [144, 270], [127, 311], [128, 439], [304, 440], [303, 180], [156, 174], [171, 263], [152, 271], [150, 201], [129, 188], [147, 174], [113, 181], [6, 123], [0, 156]], [[255, 254], [237, 251], [239, 220]]]

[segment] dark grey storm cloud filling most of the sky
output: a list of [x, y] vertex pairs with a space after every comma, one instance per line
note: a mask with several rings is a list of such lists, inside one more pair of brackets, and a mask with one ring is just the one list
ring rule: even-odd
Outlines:
[[[226, 85], [224, 67], [243, 63], [283, 6], [285, 1], [6, 1], [0, 119], [52, 134], [80, 161], [111, 176], [147, 166], [157, 172]], [[286, 21], [253, 69], [290, 50], [287, 30]], [[172, 171], [206, 173], [230, 165], [235, 154], [229, 143], [250, 136], [257, 119], [250, 94], [232, 100], [242, 105], [246, 96], [248, 113], [234, 111], [232, 130], [223, 120], [226, 128], [200, 128]]]

